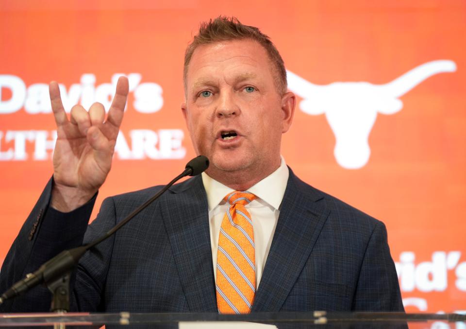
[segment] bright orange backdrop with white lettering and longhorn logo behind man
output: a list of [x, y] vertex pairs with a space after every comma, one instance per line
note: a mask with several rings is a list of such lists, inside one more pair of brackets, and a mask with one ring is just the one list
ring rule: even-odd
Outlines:
[[63, 85], [69, 110], [108, 102], [112, 77], [130, 76], [96, 213], [194, 156], [184, 48], [200, 21], [236, 16], [270, 35], [292, 72], [286, 162], [383, 220], [407, 311], [466, 310], [464, 1], [63, 2], [0, 2], [0, 262], [52, 173], [46, 84]]

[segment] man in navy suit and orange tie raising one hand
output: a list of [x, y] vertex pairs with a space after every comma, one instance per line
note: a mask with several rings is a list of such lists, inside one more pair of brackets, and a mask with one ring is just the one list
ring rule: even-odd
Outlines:
[[[184, 88], [183, 115], [209, 169], [84, 255], [72, 309], [403, 311], [384, 225], [300, 181], [280, 156], [296, 100], [268, 37], [234, 18], [202, 24], [186, 50]], [[160, 190], [106, 199], [86, 229], [127, 93], [120, 78], [106, 121], [97, 103], [89, 111], [75, 105], [68, 121], [58, 85], [50, 84], [58, 131], [53, 180], [4, 262], [2, 291], [61, 250], [108, 231]], [[49, 292], [38, 287], [2, 311], [49, 305]]]

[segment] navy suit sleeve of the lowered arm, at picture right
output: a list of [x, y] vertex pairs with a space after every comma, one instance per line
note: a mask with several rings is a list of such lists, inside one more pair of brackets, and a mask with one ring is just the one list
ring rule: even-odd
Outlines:
[[351, 311], [404, 312], [398, 276], [382, 222], [377, 222], [367, 244]]

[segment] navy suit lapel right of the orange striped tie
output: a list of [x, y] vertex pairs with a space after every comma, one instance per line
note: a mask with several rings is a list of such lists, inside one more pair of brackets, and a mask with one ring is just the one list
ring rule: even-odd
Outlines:
[[278, 312], [298, 279], [330, 210], [323, 195], [290, 170], [282, 208], [252, 312]]

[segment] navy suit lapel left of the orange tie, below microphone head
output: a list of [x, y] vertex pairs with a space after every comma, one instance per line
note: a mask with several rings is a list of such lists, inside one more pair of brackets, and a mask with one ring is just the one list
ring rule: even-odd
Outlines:
[[170, 189], [161, 205], [190, 312], [217, 312], [208, 205], [197, 176]]

